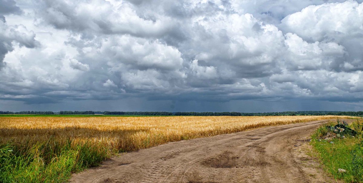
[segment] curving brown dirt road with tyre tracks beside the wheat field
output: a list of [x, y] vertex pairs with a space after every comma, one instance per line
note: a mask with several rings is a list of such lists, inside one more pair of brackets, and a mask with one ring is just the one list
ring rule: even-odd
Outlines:
[[83, 182], [336, 182], [301, 153], [304, 139], [326, 121], [171, 142], [129, 152], [73, 175]]

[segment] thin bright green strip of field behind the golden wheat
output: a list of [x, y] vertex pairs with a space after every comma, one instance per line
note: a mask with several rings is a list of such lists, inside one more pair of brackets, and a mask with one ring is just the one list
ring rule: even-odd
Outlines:
[[0, 114], [0, 117], [150, 117], [150, 116], [162, 116], [162, 115], [93, 115], [93, 114]]

